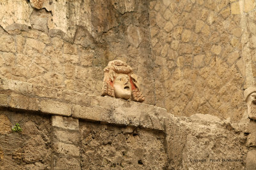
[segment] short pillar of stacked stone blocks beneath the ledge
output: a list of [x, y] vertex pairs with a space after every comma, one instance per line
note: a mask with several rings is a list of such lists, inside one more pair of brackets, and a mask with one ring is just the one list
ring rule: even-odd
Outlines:
[[52, 169], [80, 169], [79, 120], [52, 116]]

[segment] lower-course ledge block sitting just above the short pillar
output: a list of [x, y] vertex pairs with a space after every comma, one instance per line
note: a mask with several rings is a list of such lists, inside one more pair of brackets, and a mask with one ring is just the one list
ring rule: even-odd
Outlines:
[[40, 110], [43, 113], [69, 117], [71, 115], [71, 104], [60, 103], [52, 100], [42, 100], [40, 101]]

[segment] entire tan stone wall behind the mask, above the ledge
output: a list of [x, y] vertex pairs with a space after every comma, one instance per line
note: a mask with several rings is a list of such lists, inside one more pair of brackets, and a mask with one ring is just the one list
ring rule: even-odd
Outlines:
[[235, 122], [243, 90], [255, 85], [252, 0], [5, 0], [0, 8], [5, 78], [100, 96], [103, 68], [121, 59], [140, 76], [145, 103]]

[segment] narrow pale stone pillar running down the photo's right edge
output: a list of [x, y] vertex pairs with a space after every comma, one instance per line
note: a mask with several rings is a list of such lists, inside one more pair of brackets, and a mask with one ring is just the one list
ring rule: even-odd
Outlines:
[[246, 157], [246, 169], [255, 169], [256, 167], [256, 53], [255, 53], [255, 39], [256, 39], [256, 25], [255, 25], [255, 1], [240, 0], [233, 3], [231, 11], [240, 10], [241, 13], [241, 28], [242, 28], [242, 57], [244, 62], [244, 72], [246, 82], [244, 86], [244, 98], [248, 106], [248, 117], [250, 123], [246, 133], [247, 143], [250, 147]]

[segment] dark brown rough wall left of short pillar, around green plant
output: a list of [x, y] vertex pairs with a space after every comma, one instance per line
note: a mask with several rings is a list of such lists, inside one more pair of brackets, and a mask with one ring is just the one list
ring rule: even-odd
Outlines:
[[0, 169], [51, 169], [50, 117], [1, 108], [0, 118]]

